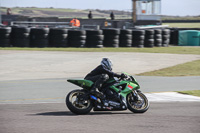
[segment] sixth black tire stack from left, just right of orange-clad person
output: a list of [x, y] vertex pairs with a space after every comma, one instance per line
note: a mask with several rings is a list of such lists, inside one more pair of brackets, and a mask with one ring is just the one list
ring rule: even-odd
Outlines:
[[88, 48], [102, 48], [104, 35], [102, 30], [87, 30], [86, 44]]

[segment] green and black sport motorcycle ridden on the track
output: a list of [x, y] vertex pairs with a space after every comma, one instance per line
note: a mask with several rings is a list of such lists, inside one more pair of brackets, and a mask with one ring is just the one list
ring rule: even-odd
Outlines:
[[69, 79], [83, 89], [73, 90], [66, 97], [66, 105], [75, 114], [94, 111], [122, 111], [129, 109], [134, 113], [144, 113], [149, 109], [147, 97], [139, 90], [140, 85], [131, 75], [126, 78], [110, 78], [101, 87], [104, 97], [90, 93], [93, 82], [84, 79]]

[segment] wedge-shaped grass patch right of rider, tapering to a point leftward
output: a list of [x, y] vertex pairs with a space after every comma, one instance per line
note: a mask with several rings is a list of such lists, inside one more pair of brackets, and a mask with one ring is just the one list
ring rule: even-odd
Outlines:
[[179, 64], [156, 71], [138, 74], [141, 76], [200, 76], [200, 60]]

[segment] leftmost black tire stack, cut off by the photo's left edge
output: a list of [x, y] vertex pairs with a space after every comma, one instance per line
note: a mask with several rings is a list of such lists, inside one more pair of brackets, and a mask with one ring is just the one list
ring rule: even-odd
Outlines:
[[0, 47], [10, 47], [11, 27], [0, 27]]

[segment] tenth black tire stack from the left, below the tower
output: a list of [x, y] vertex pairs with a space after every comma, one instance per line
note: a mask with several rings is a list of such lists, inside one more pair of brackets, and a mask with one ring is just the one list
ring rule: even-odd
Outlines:
[[154, 47], [154, 30], [153, 29], [147, 29], [145, 30], [145, 47]]

